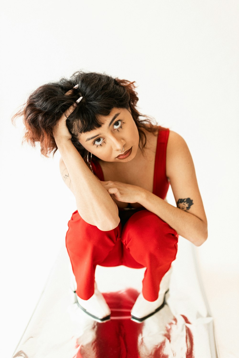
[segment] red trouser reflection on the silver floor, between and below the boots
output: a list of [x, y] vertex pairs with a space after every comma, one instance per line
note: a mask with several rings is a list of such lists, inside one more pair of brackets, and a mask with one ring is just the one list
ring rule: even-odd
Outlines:
[[103, 295], [111, 310], [111, 320], [105, 323], [92, 323], [91, 329], [95, 331], [95, 339], [84, 343], [81, 337], [78, 338], [77, 344], [80, 348], [74, 358], [140, 358], [138, 337], [142, 332], [143, 323], [138, 324], [130, 320], [130, 311], [139, 292], [128, 289]]

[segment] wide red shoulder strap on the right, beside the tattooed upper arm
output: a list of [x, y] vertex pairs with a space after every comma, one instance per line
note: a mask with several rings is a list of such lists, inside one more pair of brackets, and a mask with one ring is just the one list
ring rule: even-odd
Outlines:
[[169, 181], [166, 176], [166, 149], [168, 143], [169, 129], [159, 126], [158, 141], [154, 163], [153, 194], [165, 199]]

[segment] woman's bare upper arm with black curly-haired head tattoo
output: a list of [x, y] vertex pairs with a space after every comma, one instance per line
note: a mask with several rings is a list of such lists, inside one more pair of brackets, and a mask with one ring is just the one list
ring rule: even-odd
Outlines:
[[185, 140], [173, 131], [169, 131], [168, 137], [166, 175], [177, 207], [195, 215], [207, 226], [191, 153]]

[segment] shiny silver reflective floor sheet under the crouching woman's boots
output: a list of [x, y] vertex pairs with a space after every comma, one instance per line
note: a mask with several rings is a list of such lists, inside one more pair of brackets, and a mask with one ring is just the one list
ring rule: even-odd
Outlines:
[[96, 268], [111, 320], [97, 323], [76, 303], [63, 247], [13, 357], [217, 358], [209, 314], [191, 243], [179, 242], [166, 303], [142, 323], [130, 319], [145, 269]]

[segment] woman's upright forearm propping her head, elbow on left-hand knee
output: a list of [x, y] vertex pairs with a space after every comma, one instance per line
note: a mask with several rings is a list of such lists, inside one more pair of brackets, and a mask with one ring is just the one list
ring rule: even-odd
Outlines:
[[117, 205], [71, 140], [56, 140], [56, 144], [70, 175], [77, 210], [82, 219], [102, 231], [117, 227], [120, 221]]

